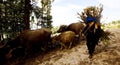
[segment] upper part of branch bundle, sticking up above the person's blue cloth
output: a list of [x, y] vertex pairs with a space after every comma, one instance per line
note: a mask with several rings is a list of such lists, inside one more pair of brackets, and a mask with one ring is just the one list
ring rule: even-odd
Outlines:
[[103, 6], [99, 5], [99, 6], [90, 6], [87, 7], [83, 10], [83, 12], [81, 14], [78, 13], [79, 18], [86, 23], [86, 17], [94, 17], [96, 18], [97, 22], [100, 23], [100, 19], [102, 17], [101, 13], [103, 11]]

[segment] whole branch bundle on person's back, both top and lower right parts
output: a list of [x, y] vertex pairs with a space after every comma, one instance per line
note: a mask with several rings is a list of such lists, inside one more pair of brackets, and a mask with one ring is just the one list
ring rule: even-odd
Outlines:
[[[96, 19], [96, 22], [98, 24], [100, 24], [100, 20], [101, 20], [101, 13], [103, 11], [103, 6], [102, 5], [99, 5], [99, 6], [90, 6], [90, 7], [87, 7], [83, 10], [83, 12], [81, 14], [77, 13], [79, 15], [79, 18], [84, 22], [86, 23], [86, 18], [87, 17], [93, 17]], [[101, 25], [101, 24], [100, 24]], [[108, 37], [108, 34], [103, 30], [101, 29], [101, 32], [100, 32], [100, 35], [101, 35], [101, 41], [103, 41], [103, 43], [106, 45], [108, 44], [108, 40], [110, 39]]]

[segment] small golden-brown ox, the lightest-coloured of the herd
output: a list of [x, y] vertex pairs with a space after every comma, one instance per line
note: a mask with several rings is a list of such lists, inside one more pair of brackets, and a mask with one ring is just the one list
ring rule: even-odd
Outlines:
[[65, 31], [62, 32], [60, 35], [55, 36], [52, 39], [52, 42], [56, 43], [59, 41], [61, 45], [61, 49], [63, 49], [63, 47], [67, 48], [67, 46], [71, 48], [72, 43], [74, 43], [74, 38], [75, 38], [75, 33], [73, 31]]

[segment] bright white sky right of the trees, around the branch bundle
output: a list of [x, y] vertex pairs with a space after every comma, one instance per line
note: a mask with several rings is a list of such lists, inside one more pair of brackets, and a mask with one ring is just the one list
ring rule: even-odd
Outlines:
[[51, 15], [53, 26], [78, 22], [77, 15], [88, 6], [103, 5], [101, 22], [107, 23], [113, 20], [120, 20], [120, 0], [54, 0], [52, 3]]

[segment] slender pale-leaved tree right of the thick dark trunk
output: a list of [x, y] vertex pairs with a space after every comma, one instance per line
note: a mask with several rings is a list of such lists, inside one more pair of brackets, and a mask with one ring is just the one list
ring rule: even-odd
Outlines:
[[42, 4], [42, 21], [41, 27], [52, 28], [51, 3], [53, 0], [41, 0]]

